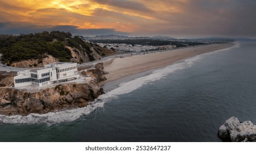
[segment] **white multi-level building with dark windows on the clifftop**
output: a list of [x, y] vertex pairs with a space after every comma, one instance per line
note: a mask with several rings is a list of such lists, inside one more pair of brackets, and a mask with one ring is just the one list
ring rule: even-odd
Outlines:
[[14, 86], [45, 86], [78, 79], [77, 63], [59, 62], [19, 72], [14, 77]]

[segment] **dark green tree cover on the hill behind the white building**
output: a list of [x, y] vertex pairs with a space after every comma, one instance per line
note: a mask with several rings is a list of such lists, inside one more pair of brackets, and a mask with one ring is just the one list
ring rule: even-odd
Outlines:
[[40, 61], [47, 55], [51, 55], [59, 61], [69, 62], [72, 54], [67, 46], [87, 54], [88, 59], [84, 61], [96, 60], [94, 54], [92, 54], [92, 48], [100, 56], [113, 54], [113, 51], [86, 43], [78, 36], [72, 37], [69, 32], [52, 31], [20, 34], [19, 36], [0, 35], [2, 62], [8, 65], [24, 60], [37, 59]]

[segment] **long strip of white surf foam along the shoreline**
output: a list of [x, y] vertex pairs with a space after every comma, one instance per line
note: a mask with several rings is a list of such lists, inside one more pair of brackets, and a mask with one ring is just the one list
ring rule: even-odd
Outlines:
[[[232, 48], [238, 48], [239, 43], [231, 46], [227, 49], [217, 50], [224, 51], [230, 50]], [[213, 52], [207, 53], [213, 54]], [[204, 54], [206, 55], [206, 54]], [[130, 93], [139, 87], [147, 83], [152, 83], [155, 80], [165, 78], [166, 75], [176, 72], [177, 70], [184, 69], [193, 65], [193, 63], [199, 60], [203, 55], [197, 55], [192, 58], [188, 58], [183, 62], [172, 64], [162, 69], [154, 70], [151, 74], [137, 78], [135, 80], [129, 81], [127, 83], [120, 84], [116, 89], [107, 92], [104, 95], [99, 96], [93, 103], [84, 108], [72, 109], [59, 111], [56, 113], [46, 113], [46, 114], [30, 114], [27, 116], [14, 115], [14, 116], [5, 116], [0, 115], [0, 122], [3, 123], [15, 123], [15, 124], [36, 124], [36, 123], [46, 123], [48, 125], [60, 122], [71, 122], [79, 119], [82, 115], [88, 115], [96, 108], [103, 107], [104, 103], [109, 102], [110, 99], [117, 98], [118, 95], [123, 95], [125, 93]]]

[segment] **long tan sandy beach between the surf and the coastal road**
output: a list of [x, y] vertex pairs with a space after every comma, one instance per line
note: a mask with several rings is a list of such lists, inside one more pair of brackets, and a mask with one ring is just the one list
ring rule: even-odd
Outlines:
[[106, 75], [107, 80], [102, 82], [101, 85], [127, 77], [129, 75], [146, 72], [150, 69], [165, 67], [177, 61], [184, 60], [185, 58], [193, 57], [210, 51], [229, 48], [232, 45], [234, 44], [211, 44], [164, 52], [155, 52], [146, 55], [113, 58], [104, 62], [104, 69], [109, 74]]

